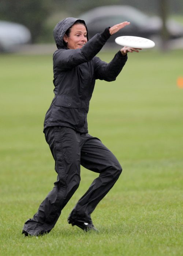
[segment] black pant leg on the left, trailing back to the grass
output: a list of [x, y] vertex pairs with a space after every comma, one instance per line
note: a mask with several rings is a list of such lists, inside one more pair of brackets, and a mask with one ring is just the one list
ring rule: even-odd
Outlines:
[[33, 219], [27, 220], [23, 227], [31, 235], [49, 232], [55, 226], [80, 182], [80, 134], [68, 127], [55, 126], [46, 129], [45, 138], [58, 176]]

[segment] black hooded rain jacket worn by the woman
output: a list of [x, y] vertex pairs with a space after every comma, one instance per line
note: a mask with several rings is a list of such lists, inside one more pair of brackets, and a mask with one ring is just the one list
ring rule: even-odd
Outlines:
[[66, 126], [87, 133], [87, 113], [96, 79], [114, 81], [127, 60], [127, 55], [120, 51], [110, 63], [96, 56], [110, 37], [109, 28], [96, 34], [81, 49], [65, 47], [64, 34], [75, 21], [76, 18], [64, 19], [53, 31], [58, 48], [53, 54], [55, 97], [46, 112], [44, 131], [49, 126]]

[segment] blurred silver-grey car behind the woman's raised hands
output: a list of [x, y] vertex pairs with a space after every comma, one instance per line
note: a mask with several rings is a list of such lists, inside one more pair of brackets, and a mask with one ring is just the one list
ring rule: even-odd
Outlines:
[[[81, 14], [79, 18], [86, 22], [89, 38], [96, 33], [102, 32], [105, 27], [111, 27], [123, 21], [129, 21], [130, 25], [118, 31], [115, 34], [115, 38], [118, 36], [139, 36], [153, 39], [156, 36], [160, 36], [162, 28], [160, 17], [150, 17], [129, 5], [97, 7]], [[183, 36], [183, 26], [178, 22], [168, 20], [167, 29], [170, 39]], [[114, 42], [114, 36], [110, 37], [108, 41]]]

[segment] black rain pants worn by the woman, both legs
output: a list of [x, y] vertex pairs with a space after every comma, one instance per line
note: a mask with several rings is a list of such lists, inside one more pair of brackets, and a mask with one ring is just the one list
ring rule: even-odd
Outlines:
[[33, 219], [27, 220], [23, 227], [30, 235], [53, 229], [61, 210], [79, 186], [80, 165], [99, 173], [70, 214], [72, 219], [85, 222], [90, 220], [90, 214], [122, 172], [122, 167], [113, 153], [98, 138], [88, 133], [79, 133], [69, 127], [53, 126], [45, 130], [45, 138], [55, 159], [58, 176], [55, 186], [41, 203]]

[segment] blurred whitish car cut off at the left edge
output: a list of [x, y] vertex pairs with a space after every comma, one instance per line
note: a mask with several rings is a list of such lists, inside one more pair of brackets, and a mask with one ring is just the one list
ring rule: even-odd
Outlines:
[[0, 52], [13, 52], [19, 45], [31, 41], [27, 27], [13, 22], [0, 21]]

